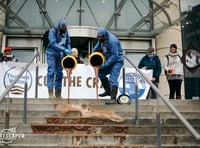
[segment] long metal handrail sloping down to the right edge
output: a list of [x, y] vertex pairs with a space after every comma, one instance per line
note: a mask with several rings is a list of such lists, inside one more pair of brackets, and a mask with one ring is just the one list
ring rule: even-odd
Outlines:
[[151, 86], [151, 88], [158, 94], [158, 96], [162, 99], [162, 101], [167, 105], [167, 107], [177, 116], [177, 118], [186, 126], [186, 128], [192, 133], [192, 135], [197, 139], [200, 140], [200, 134], [193, 128], [193, 126], [183, 117], [183, 115], [173, 106], [173, 104], [168, 100], [165, 99], [164, 95], [160, 92], [160, 90], [151, 82], [151, 80], [145, 76], [141, 72], [141, 70], [135, 66], [129, 59], [124, 55], [125, 59], [133, 66], [141, 76], [146, 80], [146, 82]]

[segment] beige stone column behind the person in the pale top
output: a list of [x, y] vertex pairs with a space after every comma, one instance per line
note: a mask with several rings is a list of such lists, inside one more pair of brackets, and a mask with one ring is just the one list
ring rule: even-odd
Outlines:
[[[155, 0], [156, 3], [161, 3], [163, 0]], [[168, 8], [166, 8], [166, 12], [170, 16], [171, 22], [178, 19], [180, 17], [180, 3], [178, 0], [171, 0], [172, 4], [169, 5]], [[159, 19], [158, 19], [159, 18]], [[162, 20], [162, 22], [161, 22]], [[167, 20], [166, 15], [164, 15], [163, 12], [159, 13], [157, 17], [154, 17], [154, 29], [158, 29], [164, 25], [164, 23], [169, 23]], [[159, 89], [161, 92], [166, 96], [166, 98], [169, 98], [169, 86], [168, 82], [166, 80], [166, 76], [164, 74], [163, 64], [165, 61], [165, 55], [169, 53], [170, 45], [172, 43], [175, 43], [178, 47], [177, 51], [180, 55], [182, 55], [182, 38], [181, 38], [181, 25], [180, 23], [177, 23], [167, 29], [162, 30], [159, 32], [159, 34], [156, 36], [155, 41], [155, 47], [157, 55], [159, 56], [162, 64], [162, 73], [160, 76], [160, 83], [159, 83]], [[185, 89], [184, 89], [184, 81], [182, 83], [182, 90], [181, 95], [182, 98], [185, 98]]]

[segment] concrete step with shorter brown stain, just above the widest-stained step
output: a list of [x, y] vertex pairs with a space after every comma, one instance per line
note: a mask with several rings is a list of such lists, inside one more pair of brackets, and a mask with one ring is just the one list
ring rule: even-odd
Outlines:
[[[53, 117], [58, 117], [58, 116], [53, 116]], [[77, 124], [77, 123], [83, 123], [83, 124], [101, 124], [101, 125], [118, 125], [117, 122], [113, 122], [111, 120], [99, 120], [98, 122], [94, 122], [93, 118], [77, 118], [77, 117], [62, 117], [61, 119], [63, 123], [69, 123], [69, 124]], [[97, 120], [97, 119], [96, 119]], [[200, 118], [186, 118], [186, 120], [192, 124], [192, 125], [198, 125], [200, 123]], [[27, 124], [33, 124], [33, 123], [37, 123], [37, 124], [42, 124], [42, 123], [46, 123], [46, 119], [45, 117], [29, 117], [27, 118]], [[126, 118], [124, 120], [124, 122], [122, 122], [121, 124], [126, 124], [126, 125], [136, 125], [136, 122], [138, 122], [139, 125], [155, 125], [156, 124], [156, 118], [155, 117], [139, 117], [138, 121], [136, 121], [136, 119], [133, 118]], [[4, 127], [4, 123], [5, 123], [5, 118], [1, 118], [0, 119], [0, 129], [2, 129]], [[174, 123], [176, 123], [176, 125], [183, 125], [182, 122], [177, 119], [176, 117], [173, 118], [163, 118], [161, 119], [161, 124], [162, 125], [173, 125]], [[23, 117], [10, 117], [10, 126], [16, 126], [19, 124], [24, 124], [23, 121]], [[1, 128], [2, 127], [2, 128]]]

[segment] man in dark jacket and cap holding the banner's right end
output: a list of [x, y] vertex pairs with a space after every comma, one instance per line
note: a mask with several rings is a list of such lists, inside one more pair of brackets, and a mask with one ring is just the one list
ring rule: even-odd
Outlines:
[[[156, 87], [158, 87], [159, 77], [160, 77], [162, 68], [161, 68], [160, 59], [154, 53], [153, 47], [150, 47], [147, 49], [146, 55], [140, 60], [140, 62], [138, 64], [138, 68], [152, 69], [153, 77], [152, 77], [151, 81]], [[148, 98], [150, 98], [150, 93], [151, 93], [152, 99], [157, 99], [157, 93], [152, 88], [150, 88]]]

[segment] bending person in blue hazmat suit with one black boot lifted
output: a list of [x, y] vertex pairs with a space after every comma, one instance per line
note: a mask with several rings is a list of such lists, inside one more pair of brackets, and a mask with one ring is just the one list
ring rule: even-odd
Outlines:
[[[117, 103], [118, 77], [124, 64], [123, 49], [118, 38], [105, 28], [97, 31], [97, 38], [97, 44], [92, 52], [98, 51], [105, 55], [105, 62], [99, 69], [99, 79], [105, 92], [99, 96], [110, 96], [111, 99], [106, 104], [115, 104]], [[109, 75], [109, 79], [107, 75]]]

